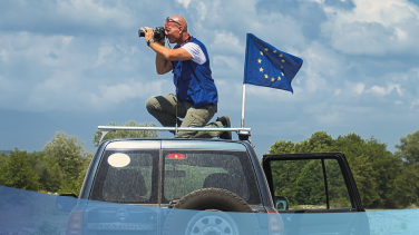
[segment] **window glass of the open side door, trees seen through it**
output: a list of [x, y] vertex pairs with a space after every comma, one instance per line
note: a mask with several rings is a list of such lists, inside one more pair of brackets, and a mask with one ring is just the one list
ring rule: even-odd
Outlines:
[[[347, 185], [337, 159], [270, 163], [277, 209], [351, 208]], [[284, 207], [283, 204], [286, 203], [288, 207]]]

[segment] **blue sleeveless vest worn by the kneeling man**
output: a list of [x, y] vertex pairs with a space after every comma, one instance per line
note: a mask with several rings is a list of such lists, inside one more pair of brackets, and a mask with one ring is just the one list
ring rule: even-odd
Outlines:
[[211, 104], [216, 105], [218, 95], [211, 76], [208, 52], [205, 46], [197, 39], [192, 38], [191, 42], [201, 47], [205, 53], [206, 62], [198, 65], [192, 60], [172, 61], [173, 81], [176, 86], [177, 98], [191, 102], [193, 108]]

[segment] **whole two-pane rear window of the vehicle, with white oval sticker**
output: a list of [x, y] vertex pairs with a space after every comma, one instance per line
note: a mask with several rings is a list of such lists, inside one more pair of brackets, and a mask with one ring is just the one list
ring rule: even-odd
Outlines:
[[[168, 204], [210, 187], [231, 190], [251, 205], [262, 204], [251, 160], [247, 153], [241, 150], [176, 149], [160, 153], [158, 149], [113, 148], [103, 155], [90, 199]], [[160, 202], [158, 195], [162, 195]]]

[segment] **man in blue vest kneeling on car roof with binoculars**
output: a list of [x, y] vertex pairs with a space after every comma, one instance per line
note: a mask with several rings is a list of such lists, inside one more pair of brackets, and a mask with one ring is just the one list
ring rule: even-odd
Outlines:
[[[153, 29], [145, 27], [147, 45], [156, 52], [158, 75], [174, 74], [176, 95], [150, 98], [146, 108], [163, 126], [204, 127], [217, 111], [218, 95], [211, 76], [210, 57], [205, 46], [187, 32], [186, 20], [181, 16], [167, 17], [165, 33], [174, 49], [165, 47], [165, 40], [154, 40]], [[183, 121], [178, 118], [184, 118]], [[224, 115], [205, 127], [231, 127]], [[179, 131], [181, 138], [232, 139], [230, 131]]]

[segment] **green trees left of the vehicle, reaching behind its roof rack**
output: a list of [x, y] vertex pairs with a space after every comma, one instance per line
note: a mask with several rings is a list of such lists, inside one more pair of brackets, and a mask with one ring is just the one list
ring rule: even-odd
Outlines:
[[[116, 124], [109, 123], [108, 126]], [[148, 125], [128, 121], [121, 126]], [[95, 146], [98, 146], [100, 136], [100, 131], [94, 133]], [[109, 133], [105, 139], [125, 137], [152, 138], [158, 137], [158, 133], [118, 130]], [[0, 151], [0, 185], [41, 193], [78, 195], [91, 157], [92, 153], [86, 151], [78, 137], [58, 131], [39, 151], [28, 153], [19, 148]]]

